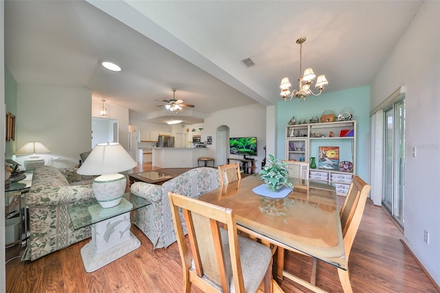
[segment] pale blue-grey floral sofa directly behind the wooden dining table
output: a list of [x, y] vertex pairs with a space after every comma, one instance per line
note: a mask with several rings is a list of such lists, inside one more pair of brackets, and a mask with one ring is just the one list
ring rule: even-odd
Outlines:
[[[166, 248], [177, 240], [168, 202], [168, 191], [199, 198], [219, 187], [219, 172], [210, 167], [191, 169], [168, 180], [162, 186], [135, 182], [131, 185], [131, 193], [151, 202], [151, 205], [135, 210], [135, 225], [151, 240], [153, 249]], [[186, 233], [185, 226], [184, 229]]]

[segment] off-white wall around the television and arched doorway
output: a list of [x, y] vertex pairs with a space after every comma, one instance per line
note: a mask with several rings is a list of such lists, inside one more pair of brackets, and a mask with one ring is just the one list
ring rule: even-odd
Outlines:
[[216, 157], [215, 134], [217, 127], [221, 125], [229, 127], [230, 137], [256, 136], [258, 156], [254, 157], [256, 159], [254, 172], [261, 171], [261, 161], [264, 158], [263, 147], [266, 145], [266, 108], [260, 104], [253, 104], [211, 113], [205, 119], [202, 139], [206, 140], [208, 135], [212, 136], [212, 144], [207, 145], [208, 154], [212, 158]]

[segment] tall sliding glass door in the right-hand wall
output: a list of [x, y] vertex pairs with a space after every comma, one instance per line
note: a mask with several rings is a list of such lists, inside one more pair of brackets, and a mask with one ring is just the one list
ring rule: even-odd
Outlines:
[[384, 197], [382, 203], [404, 227], [405, 100], [384, 111]]

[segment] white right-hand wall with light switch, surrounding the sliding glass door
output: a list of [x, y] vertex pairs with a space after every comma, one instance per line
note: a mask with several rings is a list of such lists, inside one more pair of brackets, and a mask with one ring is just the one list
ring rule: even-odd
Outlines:
[[[371, 87], [371, 109], [406, 86], [405, 240], [440, 284], [440, 1], [425, 1]], [[412, 158], [412, 147], [417, 157]], [[429, 244], [423, 232], [430, 232]]]

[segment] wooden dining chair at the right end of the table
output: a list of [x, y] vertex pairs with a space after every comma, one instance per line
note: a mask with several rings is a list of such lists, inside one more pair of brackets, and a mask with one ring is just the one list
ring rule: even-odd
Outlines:
[[[353, 241], [355, 239], [356, 233], [364, 213], [364, 208], [366, 204], [366, 197], [370, 192], [371, 186], [366, 184], [359, 175], [354, 175], [353, 180], [351, 180], [349, 193], [345, 199], [344, 205], [342, 206], [339, 216], [342, 227], [342, 237], [344, 238], [344, 252], [345, 252], [345, 267], [347, 270], [342, 270], [338, 268], [338, 275], [342, 285], [342, 289], [345, 293], [353, 292], [351, 289], [350, 275], [349, 275], [349, 256], [351, 252], [351, 246], [353, 246]], [[294, 252], [304, 254], [298, 250]], [[289, 272], [284, 271], [284, 249], [278, 248], [278, 276], [281, 274], [287, 279], [290, 279], [300, 285], [303, 285], [314, 292], [323, 292], [320, 288], [316, 287], [316, 258], [313, 258], [311, 265], [311, 278], [310, 282], [300, 279], [298, 276], [294, 276]]]

